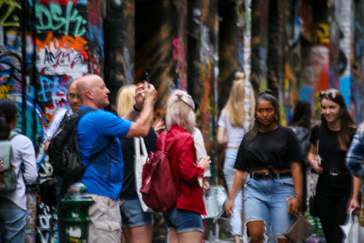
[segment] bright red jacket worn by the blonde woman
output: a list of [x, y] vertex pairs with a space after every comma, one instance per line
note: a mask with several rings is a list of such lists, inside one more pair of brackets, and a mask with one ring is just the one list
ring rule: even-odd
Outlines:
[[162, 149], [166, 137], [166, 150], [178, 190], [177, 208], [187, 209], [206, 215], [202, 188], [198, 177], [202, 177], [204, 168], [197, 166], [196, 147], [191, 134], [182, 127], [173, 125], [168, 132], [157, 139], [157, 149]]

